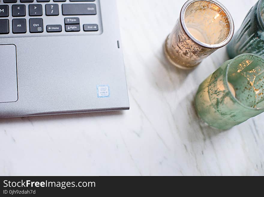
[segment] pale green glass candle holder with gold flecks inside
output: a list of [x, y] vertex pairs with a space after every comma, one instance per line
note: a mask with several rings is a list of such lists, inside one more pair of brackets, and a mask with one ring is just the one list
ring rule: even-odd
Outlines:
[[226, 61], [199, 86], [200, 118], [226, 130], [264, 112], [264, 59], [253, 54]]

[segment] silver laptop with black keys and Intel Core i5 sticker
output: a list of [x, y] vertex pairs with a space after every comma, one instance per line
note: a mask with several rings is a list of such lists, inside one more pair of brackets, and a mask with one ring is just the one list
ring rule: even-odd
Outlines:
[[126, 109], [115, 0], [0, 1], [0, 118]]

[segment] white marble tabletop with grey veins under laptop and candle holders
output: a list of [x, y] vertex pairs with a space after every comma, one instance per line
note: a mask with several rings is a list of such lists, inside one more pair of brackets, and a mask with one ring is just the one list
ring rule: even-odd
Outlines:
[[[162, 43], [185, 0], [117, 0], [131, 109], [0, 120], [0, 175], [264, 175], [264, 114], [227, 130], [193, 108], [225, 48], [195, 70], [168, 65]], [[235, 29], [256, 0], [220, 0]]]

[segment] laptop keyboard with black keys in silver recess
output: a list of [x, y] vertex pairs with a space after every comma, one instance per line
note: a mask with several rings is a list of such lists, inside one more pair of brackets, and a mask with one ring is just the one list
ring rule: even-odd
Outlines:
[[101, 33], [99, 0], [0, 0], [0, 37]]

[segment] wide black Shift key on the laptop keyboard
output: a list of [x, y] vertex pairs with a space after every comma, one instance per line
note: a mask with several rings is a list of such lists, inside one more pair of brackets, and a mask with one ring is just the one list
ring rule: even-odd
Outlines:
[[95, 4], [62, 4], [63, 15], [95, 15]]

